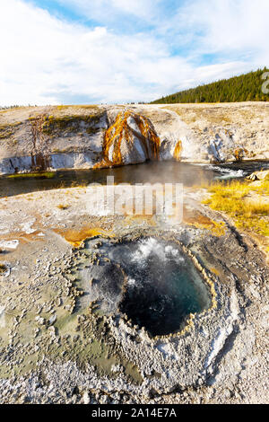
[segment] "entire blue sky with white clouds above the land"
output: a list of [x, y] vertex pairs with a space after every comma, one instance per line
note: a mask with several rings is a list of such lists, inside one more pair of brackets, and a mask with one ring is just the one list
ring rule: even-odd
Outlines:
[[269, 64], [268, 0], [0, 0], [0, 105], [151, 101]]

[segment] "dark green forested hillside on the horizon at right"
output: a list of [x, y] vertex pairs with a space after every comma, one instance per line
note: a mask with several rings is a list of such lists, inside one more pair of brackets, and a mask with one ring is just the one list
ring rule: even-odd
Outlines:
[[186, 91], [176, 92], [151, 104], [174, 104], [178, 102], [240, 102], [269, 101], [269, 94], [262, 92], [262, 75], [266, 67], [245, 75], [222, 79], [212, 84], [200, 85]]

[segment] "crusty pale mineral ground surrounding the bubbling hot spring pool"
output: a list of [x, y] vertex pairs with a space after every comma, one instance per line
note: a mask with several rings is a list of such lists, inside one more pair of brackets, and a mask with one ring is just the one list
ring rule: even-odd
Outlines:
[[[2, 403], [268, 402], [265, 254], [204, 195], [186, 189], [173, 224], [91, 215], [84, 188], [0, 199]], [[141, 236], [178, 242], [212, 295], [173, 336], [152, 338], [85, 295], [102, 239]]]

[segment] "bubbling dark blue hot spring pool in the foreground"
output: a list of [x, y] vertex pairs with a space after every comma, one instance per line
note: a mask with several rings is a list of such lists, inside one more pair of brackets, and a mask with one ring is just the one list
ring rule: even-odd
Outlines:
[[153, 336], [182, 330], [190, 313], [210, 308], [204, 279], [178, 243], [149, 237], [103, 244], [101, 250], [126, 273], [119, 311]]

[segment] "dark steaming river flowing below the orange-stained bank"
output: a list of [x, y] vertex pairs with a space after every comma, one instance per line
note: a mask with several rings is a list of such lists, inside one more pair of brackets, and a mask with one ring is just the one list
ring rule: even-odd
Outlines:
[[194, 165], [177, 162], [149, 162], [113, 169], [56, 171], [52, 179], [0, 177], [0, 197], [20, 195], [39, 190], [70, 188], [89, 183], [105, 184], [107, 176], [116, 183], [183, 183], [187, 187], [200, 185], [223, 177], [245, 177], [252, 171], [268, 168], [269, 163], [231, 163], [223, 165]]

